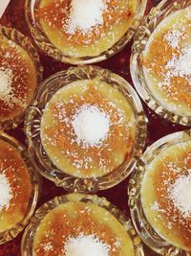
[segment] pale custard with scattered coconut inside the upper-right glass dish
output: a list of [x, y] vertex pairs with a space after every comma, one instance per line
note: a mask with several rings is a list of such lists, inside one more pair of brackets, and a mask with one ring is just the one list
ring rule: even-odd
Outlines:
[[149, 37], [143, 74], [152, 96], [169, 111], [191, 116], [191, 7], [167, 15]]

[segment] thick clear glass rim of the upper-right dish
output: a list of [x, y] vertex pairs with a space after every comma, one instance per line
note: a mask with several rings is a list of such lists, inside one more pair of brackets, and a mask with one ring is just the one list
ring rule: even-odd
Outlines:
[[[134, 81], [138, 94], [145, 102], [145, 104], [148, 105], [152, 110], [154, 110], [157, 114], [159, 114], [159, 116], [163, 117], [164, 119], [183, 126], [191, 125], [190, 114], [185, 114], [183, 113], [183, 111], [181, 111], [182, 113], [180, 113], [180, 111], [175, 110], [172, 103], [164, 104], [165, 101], [162, 100], [164, 99], [163, 96], [163, 98], [161, 98], [159, 102], [159, 99], [157, 99], [157, 97], [159, 97], [157, 95], [157, 92], [155, 92], [157, 96], [154, 96], [153, 92], [149, 88], [148, 80], [146, 80], [145, 77], [145, 71], [142, 61], [148, 40], [151, 38], [151, 35], [153, 35], [153, 32], [164, 20], [164, 18], [166, 18], [170, 14], [174, 14], [178, 11], [185, 9], [186, 7], [190, 6], [190, 4], [191, 1], [163, 0], [156, 8], [153, 8], [149, 15], [142, 19], [138, 27], [138, 31], [134, 36], [134, 44], [132, 46], [132, 55], [130, 61], [132, 79]], [[151, 81], [151, 83], [152, 82], [153, 81]]]

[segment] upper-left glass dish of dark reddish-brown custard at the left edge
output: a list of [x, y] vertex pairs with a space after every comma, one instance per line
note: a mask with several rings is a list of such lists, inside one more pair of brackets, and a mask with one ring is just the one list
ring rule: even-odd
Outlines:
[[15, 127], [41, 79], [42, 68], [30, 40], [0, 27], [0, 128]]

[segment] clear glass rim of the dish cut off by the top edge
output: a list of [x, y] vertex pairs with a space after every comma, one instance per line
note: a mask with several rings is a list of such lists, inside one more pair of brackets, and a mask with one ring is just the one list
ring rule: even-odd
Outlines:
[[75, 58], [70, 55], [64, 55], [59, 49], [57, 49], [53, 43], [50, 41], [48, 36], [43, 32], [41, 25], [36, 20], [35, 10], [39, 6], [40, 0], [26, 0], [25, 3], [25, 14], [30, 28], [32, 37], [34, 38], [36, 44], [42, 49], [47, 55], [60, 60], [62, 62], [71, 64], [90, 64], [104, 59], [110, 58], [117, 54], [132, 38], [135, 31], [138, 29], [138, 24], [144, 15], [147, 6], [147, 0], [138, 0], [137, 10], [132, 23], [127, 30], [127, 32], [115, 43], [110, 49], [102, 52], [99, 56]]

